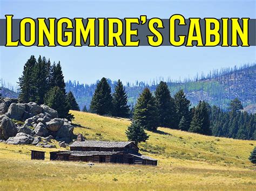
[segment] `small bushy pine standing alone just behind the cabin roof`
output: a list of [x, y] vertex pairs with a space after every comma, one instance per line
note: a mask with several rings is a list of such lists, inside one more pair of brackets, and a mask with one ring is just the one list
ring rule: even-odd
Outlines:
[[146, 140], [149, 139], [149, 136], [144, 131], [144, 127], [136, 121], [132, 122], [125, 131], [125, 134], [128, 140], [135, 142], [136, 145], [140, 142], [146, 142]]

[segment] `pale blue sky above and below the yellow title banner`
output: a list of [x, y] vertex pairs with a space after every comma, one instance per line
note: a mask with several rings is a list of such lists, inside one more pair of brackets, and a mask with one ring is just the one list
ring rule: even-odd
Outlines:
[[[184, 17], [256, 18], [255, 1], [2, 1], [0, 18]], [[256, 61], [255, 47], [0, 47], [0, 77], [15, 84], [29, 56], [62, 63], [65, 80], [93, 83], [157, 77], [183, 79], [211, 69]]]

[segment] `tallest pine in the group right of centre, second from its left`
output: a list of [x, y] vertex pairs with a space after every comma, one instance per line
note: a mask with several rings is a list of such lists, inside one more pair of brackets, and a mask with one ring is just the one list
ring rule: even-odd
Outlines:
[[176, 124], [176, 108], [166, 82], [161, 81], [154, 93], [158, 109], [159, 126], [173, 128]]

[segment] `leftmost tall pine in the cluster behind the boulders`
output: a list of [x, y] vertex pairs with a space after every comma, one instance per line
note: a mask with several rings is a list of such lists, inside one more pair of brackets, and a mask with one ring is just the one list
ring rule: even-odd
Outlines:
[[19, 77], [19, 102], [28, 103], [34, 101], [35, 99], [35, 92], [32, 89], [32, 74], [33, 68], [35, 67], [37, 60], [35, 56], [31, 55], [30, 59], [26, 61], [22, 76]]

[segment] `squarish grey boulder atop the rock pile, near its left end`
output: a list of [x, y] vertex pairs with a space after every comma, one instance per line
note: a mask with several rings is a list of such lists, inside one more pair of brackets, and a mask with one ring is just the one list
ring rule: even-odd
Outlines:
[[26, 105], [23, 103], [12, 103], [8, 109], [6, 115], [11, 119], [21, 121], [23, 114], [26, 110]]

